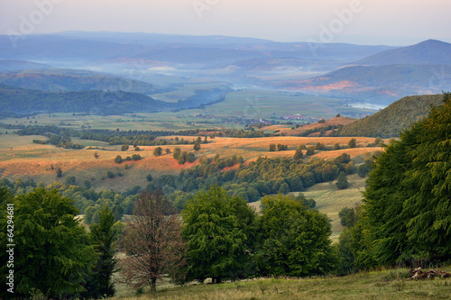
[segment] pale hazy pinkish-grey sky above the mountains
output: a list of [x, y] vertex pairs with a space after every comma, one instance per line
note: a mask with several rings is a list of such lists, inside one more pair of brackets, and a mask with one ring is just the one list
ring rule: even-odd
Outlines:
[[0, 34], [228, 35], [273, 41], [451, 42], [449, 0], [0, 0]]

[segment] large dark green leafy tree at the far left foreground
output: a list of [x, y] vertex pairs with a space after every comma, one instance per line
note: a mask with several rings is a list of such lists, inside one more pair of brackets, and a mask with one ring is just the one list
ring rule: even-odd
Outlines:
[[[79, 295], [97, 258], [78, 210], [57, 190], [37, 188], [18, 195], [14, 203], [14, 283], [16, 296], [28, 297], [40, 290], [53, 299]], [[0, 243], [5, 249], [6, 219], [0, 219]], [[5, 251], [0, 252], [2, 261]], [[2, 277], [6, 265], [0, 266]]]

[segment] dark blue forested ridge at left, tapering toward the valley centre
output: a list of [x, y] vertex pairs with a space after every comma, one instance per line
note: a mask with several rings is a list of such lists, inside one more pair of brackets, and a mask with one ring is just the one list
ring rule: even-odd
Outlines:
[[0, 84], [0, 116], [45, 113], [132, 114], [179, 110], [224, 100], [228, 89], [204, 91], [179, 104], [137, 93], [109, 91], [43, 92]]

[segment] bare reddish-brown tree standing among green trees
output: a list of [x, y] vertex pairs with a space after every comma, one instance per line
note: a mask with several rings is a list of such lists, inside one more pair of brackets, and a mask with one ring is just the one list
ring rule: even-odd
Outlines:
[[124, 229], [125, 259], [119, 261], [127, 284], [151, 286], [170, 274], [174, 279], [184, 263], [184, 243], [179, 217], [173, 214], [170, 202], [160, 190], [146, 192], [133, 206], [133, 216]]

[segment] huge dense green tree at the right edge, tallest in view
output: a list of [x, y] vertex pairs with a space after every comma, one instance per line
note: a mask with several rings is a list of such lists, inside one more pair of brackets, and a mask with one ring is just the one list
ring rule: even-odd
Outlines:
[[364, 203], [378, 264], [451, 259], [451, 94], [382, 152]]

